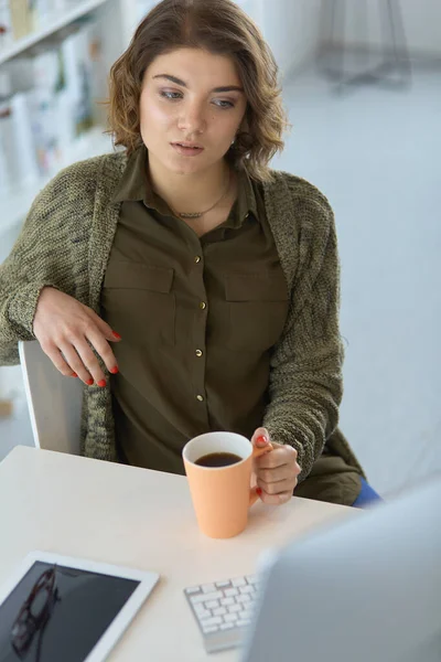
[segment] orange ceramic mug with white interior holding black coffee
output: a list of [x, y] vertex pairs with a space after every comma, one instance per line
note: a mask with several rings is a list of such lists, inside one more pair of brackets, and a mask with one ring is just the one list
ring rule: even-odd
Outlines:
[[[248, 509], [258, 500], [250, 488], [252, 458], [272, 450], [268, 444], [256, 448], [235, 433], [206, 433], [189, 441], [182, 451], [197, 524], [214, 538], [239, 534], [247, 525]], [[240, 460], [223, 467], [197, 465], [211, 453], [233, 453]]]

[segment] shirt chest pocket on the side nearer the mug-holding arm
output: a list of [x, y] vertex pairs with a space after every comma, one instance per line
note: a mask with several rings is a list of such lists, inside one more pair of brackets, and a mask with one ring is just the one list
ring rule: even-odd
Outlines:
[[281, 269], [226, 277], [227, 346], [263, 352], [275, 345], [288, 314], [288, 289]]

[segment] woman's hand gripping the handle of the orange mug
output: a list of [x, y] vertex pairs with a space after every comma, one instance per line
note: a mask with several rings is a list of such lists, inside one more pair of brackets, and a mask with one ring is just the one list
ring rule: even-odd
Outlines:
[[255, 458], [254, 471], [260, 499], [263, 503], [278, 505], [291, 499], [301, 468], [297, 463], [297, 450], [292, 446], [276, 444], [269, 438], [266, 428], [257, 428], [251, 444], [265, 448], [269, 442], [273, 450]]

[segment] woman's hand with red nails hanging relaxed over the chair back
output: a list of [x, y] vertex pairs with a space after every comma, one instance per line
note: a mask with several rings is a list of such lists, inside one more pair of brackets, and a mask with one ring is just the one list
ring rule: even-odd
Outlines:
[[42, 350], [63, 375], [78, 376], [92, 386], [105, 386], [105, 374], [90, 345], [110, 373], [118, 364], [108, 341], [120, 340], [100, 317], [73, 297], [53, 287], [41, 291], [33, 332]]

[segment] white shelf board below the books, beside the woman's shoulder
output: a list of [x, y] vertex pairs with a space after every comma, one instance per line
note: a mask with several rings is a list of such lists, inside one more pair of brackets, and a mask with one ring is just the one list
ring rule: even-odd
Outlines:
[[37, 193], [47, 184], [58, 170], [106, 152], [112, 151], [111, 139], [103, 134], [103, 127], [94, 127], [78, 138], [66, 158], [55, 172], [41, 177], [32, 182], [18, 185], [15, 190], [3, 194], [0, 199], [0, 237], [22, 223]]

